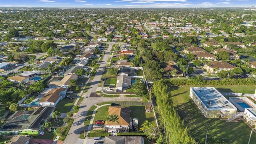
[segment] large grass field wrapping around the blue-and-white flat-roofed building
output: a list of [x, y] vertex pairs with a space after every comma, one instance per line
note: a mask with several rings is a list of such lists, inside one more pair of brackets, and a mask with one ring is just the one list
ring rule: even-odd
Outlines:
[[[220, 92], [254, 93], [255, 86], [215, 86]], [[227, 144], [246, 144], [250, 136], [250, 128], [242, 121], [226, 122], [225, 120], [203, 116], [189, 97], [190, 86], [170, 86], [172, 100], [177, 112], [188, 125], [190, 134], [198, 141], [220, 139]], [[252, 133], [251, 142], [256, 141], [256, 134]]]

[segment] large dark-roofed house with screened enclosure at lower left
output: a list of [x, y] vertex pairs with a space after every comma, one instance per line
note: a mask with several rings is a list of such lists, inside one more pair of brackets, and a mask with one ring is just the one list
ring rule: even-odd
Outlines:
[[2, 135], [39, 135], [50, 120], [55, 107], [44, 106], [34, 111], [16, 111], [0, 128]]

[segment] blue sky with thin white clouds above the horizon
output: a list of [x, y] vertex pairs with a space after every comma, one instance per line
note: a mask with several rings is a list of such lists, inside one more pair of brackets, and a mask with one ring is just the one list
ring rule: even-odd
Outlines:
[[0, 8], [198, 8], [252, 6], [256, 6], [256, 0], [0, 0]]

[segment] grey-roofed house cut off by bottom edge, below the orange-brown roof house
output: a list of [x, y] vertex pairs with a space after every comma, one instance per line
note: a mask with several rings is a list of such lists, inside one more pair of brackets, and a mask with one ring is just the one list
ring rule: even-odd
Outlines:
[[104, 144], [144, 144], [141, 136], [105, 136]]

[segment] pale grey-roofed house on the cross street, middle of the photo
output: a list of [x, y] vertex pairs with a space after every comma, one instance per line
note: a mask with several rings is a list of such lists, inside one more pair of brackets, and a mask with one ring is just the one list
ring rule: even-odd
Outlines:
[[116, 91], [123, 91], [129, 88], [132, 84], [130, 76], [119, 75], [116, 80]]

